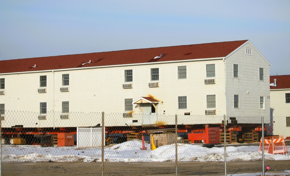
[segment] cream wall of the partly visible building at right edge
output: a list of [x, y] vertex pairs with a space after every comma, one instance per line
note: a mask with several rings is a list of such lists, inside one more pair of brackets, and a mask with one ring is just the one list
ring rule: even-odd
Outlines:
[[288, 90], [271, 90], [271, 117], [273, 121], [273, 135], [283, 135], [284, 138], [290, 136], [290, 127], [286, 127], [286, 117], [290, 117], [290, 103], [285, 103], [285, 93]]

